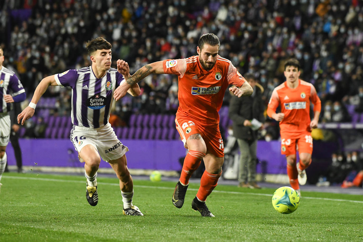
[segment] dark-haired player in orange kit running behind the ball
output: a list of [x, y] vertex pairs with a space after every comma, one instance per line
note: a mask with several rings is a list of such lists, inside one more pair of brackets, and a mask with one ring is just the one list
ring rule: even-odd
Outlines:
[[[315, 87], [299, 79], [298, 60], [287, 60], [284, 75], [286, 81], [272, 92], [267, 115], [280, 122], [281, 154], [286, 155], [290, 185], [300, 195], [299, 183], [306, 183], [305, 169], [310, 165], [313, 153], [311, 128], [318, 127], [321, 101]], [[314, 118], [311, 121], [310, 101], [314, 104]], [[281, 112], [276, 113], [279, 105]], [[300, 161], [296, 165], [297, 147]]]

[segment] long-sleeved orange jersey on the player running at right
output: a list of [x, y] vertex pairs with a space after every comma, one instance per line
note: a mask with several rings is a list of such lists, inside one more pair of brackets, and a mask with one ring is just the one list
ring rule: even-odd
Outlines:
[[299, 85], [292, 89], [285, 81], [273, 90], [267, 114], [271, 117], [280, 105], [285, 114], [280, 122], [281, 133], [299, 135], [310, 131], [310, 101], [314, 104], [314, 112], [320, 112], [321, 101], [311, 83], [299, 79]]

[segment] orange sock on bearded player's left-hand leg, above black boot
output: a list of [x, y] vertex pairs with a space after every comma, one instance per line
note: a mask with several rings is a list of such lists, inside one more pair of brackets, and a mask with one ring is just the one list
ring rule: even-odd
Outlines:
[[183, 169], [180, 174], [179, 181], [181, 184], [188, 185], [189, 178], [192, 176], [193, 172], [198, 169], [200, 161], [204, 156], [204, 153], [189, 150], [188, 154], [185, 156]]

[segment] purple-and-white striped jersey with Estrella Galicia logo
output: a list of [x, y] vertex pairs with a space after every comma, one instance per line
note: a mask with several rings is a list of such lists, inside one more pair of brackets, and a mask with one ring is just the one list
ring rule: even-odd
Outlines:
[[72, 88], [72, 123], [76, 126], [99, 128], [109, 122], [113, 92], [124, 80], [117, 69], [96, 78], [91, 66], [54, 75], [59, 86]]

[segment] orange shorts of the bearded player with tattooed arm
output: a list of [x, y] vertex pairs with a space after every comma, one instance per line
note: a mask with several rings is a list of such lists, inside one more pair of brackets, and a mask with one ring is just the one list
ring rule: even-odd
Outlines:
[[200, 134], [207, 146], [207, 153], [216, 157], [224, 157], [224, 144], [219, 131], [219, 126], [204, 127], [187, 116], [177, 115], [175, 119], [176, 130], [178, 130], [184, 147], [187, 148], [187, 140], [193, 134]]

